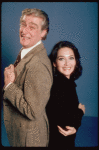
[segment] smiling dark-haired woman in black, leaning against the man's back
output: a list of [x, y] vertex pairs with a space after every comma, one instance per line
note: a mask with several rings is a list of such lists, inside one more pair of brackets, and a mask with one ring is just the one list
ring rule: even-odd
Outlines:
[[50, 124], [49, 147], [73, 148], [85, 113], [85, 106], [79, 104], [74, 82], [82, 74], [80, 55], [74, 44], [61, 41], [54, 46], [50, 59], [54, 80], [46, 108]]

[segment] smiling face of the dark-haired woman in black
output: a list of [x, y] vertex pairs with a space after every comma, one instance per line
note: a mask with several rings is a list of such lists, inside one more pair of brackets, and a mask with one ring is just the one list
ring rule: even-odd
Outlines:
[[60, 73], [69, 79], [76, 66], [76, 59], [73, 50], [68, 47], [59, 49], [56, 62], [53, 63], [53, 65]]

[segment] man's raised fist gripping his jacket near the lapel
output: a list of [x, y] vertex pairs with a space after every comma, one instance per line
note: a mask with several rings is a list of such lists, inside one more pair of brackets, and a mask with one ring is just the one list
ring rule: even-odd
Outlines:
[[6, 87], [9, 83], [13, 83], [14, 81], [15, 81], [14, 65], [11, 64], [4, 70], [4, 83], [5, 83], [4, 86]]

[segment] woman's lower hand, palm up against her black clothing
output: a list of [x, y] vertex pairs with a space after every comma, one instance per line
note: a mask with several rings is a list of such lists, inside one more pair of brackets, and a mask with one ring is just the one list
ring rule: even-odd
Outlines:
[[66, 129], [63, 129], [60, 126], [57, 126], [57, 127], [58, 127], [59, 132], [64, 136], [69, 136], [77, 132], [74, 127], [66, 126], [65, 127]]

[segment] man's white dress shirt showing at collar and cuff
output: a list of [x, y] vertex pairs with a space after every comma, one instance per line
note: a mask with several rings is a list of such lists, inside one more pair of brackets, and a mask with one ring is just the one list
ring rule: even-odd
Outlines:
[[[34, 47], [36, 47], [36, 46], [39, 45], [39, 44], [41, 44], [41, 40], [40, 40], [38, 43], [36, 43], [34, 46], [29, 47], [29, 48], [26, 48], [26, 49], [23, 49], [23, 50], [21, 51], [21, 59], [22, 59], [28, 52], [30, 52]], [[6, 88], [7, 88], [11, 83], [12, 83], [12, 82], [10, 82], [10, 83], [4, 88], [4, 90], [6, 90]]]

